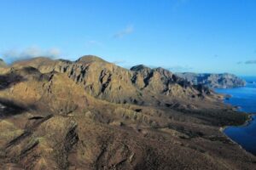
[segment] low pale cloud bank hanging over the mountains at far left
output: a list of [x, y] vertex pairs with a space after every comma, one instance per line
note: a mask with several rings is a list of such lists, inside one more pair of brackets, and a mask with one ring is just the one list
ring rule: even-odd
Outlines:
[[56, 59], [60, 57], [60, 55], [61, 50], [59, 48], [42, 49], [35, 46], [24, 49], [11, 48], [2, 53], [3, 59], [8, 60], [9, 62], [21, 59], [32, 59], [40, 56]]

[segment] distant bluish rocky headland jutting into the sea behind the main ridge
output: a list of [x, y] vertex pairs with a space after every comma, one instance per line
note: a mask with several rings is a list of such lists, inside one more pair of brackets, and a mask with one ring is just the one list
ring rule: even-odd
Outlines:
[[194, 85], [204, 85], [209, 88], [237, 88], [246, 85], [246, 82], [233, 74], [196, 74], [196, 73], [176, 73], [178, 77], [186, 79]]

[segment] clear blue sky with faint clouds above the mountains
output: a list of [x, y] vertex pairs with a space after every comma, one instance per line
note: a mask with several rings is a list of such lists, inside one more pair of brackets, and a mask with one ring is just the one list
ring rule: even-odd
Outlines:
[[0, 0], [7, 62], [95, 54], [117, 65], [256, 76], [253, 0]]

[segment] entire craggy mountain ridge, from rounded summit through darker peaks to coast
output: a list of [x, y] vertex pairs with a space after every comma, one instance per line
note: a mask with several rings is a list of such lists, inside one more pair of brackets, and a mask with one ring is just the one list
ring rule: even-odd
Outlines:
[[145, 69], [135, 66], [128, 71], [96, 56], [84, 56], [74, 62], [37, 58], [16, 63], [14, 67], [32, 66], [43, 73], [66, 73], [85, 91], [98, 98], [115, 103], [165, 105], [173, 99], [200, 99], [212, 94], [209, 89], [193, 87], [165, 69]]

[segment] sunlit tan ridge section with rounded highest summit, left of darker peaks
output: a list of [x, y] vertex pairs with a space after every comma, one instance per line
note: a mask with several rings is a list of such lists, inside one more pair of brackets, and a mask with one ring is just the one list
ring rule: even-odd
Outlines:
[[[41, 62], [41, 60], [42, 58], [32, 59], [21, 63], [21, 66], [30, 65], [44, 73], [51, 71], [66, 73], [74, 82], [83, 86], [88, 94], [99, 99], [122, 103], [129, 95], [137, 97], [137, 89], [131, 84], [130, 71], [95, 56], [85, 56], [75, 62], [49, 59]], [[14, 66], [20, 67], [20, 63]]]

